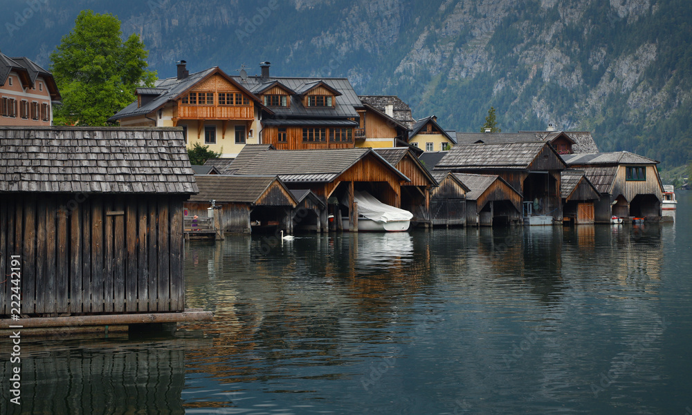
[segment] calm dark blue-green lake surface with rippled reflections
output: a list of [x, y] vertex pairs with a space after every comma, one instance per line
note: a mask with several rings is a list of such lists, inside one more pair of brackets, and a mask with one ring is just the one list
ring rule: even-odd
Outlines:
[[190, 338], [26, 343], [3, 414], [692, 414], [676, 223], [185, 244]]

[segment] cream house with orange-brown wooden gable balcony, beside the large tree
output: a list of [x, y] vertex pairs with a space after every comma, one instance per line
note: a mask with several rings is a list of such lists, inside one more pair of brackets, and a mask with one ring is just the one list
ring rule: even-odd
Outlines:
[[154, 88], [137, 88], [137, 101], [109, 121], [120, 126], [183, 127], [188, 148], [199, 143], [221, 157], [235, 157], [245, 144], [260, 144], [260, 98], [217, 66], [190, 74], [185, 61], [176, 77]]

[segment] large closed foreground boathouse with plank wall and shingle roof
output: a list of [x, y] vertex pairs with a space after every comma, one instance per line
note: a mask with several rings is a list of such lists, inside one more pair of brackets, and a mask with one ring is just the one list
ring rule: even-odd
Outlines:
[[[0, 127], [0, 193], [0, 269], [21, 258], [25, 328], [211, 318], [185, 312], [197, 185], [181, 129]], [[2, 327], [13, 287], [0, 284]]]

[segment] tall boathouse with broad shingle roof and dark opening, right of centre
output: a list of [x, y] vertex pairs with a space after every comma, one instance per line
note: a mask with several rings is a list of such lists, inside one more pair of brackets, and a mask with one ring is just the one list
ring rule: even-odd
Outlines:
[[434, 171], [499, 175], [531, 204], [531, 213], [562, 222], [560, 172], [567, 165], [548, 142], [457, 144]]

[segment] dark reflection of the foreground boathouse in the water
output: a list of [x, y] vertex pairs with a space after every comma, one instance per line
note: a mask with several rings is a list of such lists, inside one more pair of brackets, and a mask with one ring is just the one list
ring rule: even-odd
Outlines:
[[[24, 340], [24, 339], [22, 339]], [[22, 342], [26, 347], [30, 343]], [[3, 414], [184, 414], [181, 342], [84, 345], [21, 356], [21, 407], [3, 399]], [[3, 358], [4, 383], [10, 378]], [[3, 396], [6, 396], [3, 393]]]

